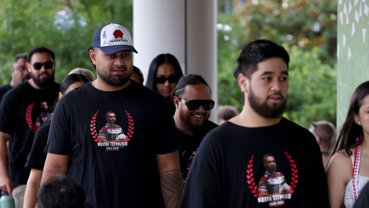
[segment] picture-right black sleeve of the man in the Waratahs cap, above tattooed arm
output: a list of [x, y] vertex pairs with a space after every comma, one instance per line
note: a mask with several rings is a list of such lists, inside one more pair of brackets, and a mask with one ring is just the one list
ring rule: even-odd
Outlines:
[[[168, 154], [179, 150], [179, 139], [172, 112], [165, 98], [158, 96], [155, 102], [155, 153]], [[155, 138], [154, 137], [154, 138]]]

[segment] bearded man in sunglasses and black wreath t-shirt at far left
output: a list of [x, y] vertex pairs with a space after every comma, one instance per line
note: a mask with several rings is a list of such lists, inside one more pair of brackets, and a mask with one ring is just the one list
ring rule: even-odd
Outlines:
[[49, 48], [32, 49], [25, 66], [31, 79], [8, 91], [0, 104], [0, 188], [15, 199], [17, 208], [23, 207], [30, 174], [24, 165], [38, 129], [36, 120], [48, 112], [42, 112], [41, 106], [54, 105], [59, 93], [59, 84], [54, 82], [55, 55]]

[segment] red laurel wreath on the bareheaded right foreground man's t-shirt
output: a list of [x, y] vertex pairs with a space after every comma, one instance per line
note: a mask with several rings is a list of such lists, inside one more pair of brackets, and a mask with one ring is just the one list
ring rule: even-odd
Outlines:
[[[299, 182], [299, 180], [297, 180], [297, 178], [299, 178], [299, 175], [297, 174], [297, 172], [299, 171], [297, 170], [295, 161], [292, 159], [291, 155], [289, 155], [287, 152], [284, 152], [284, 154], [286, 154], [286, 157], [289, 159], [288, 161], [290, 162], [290, 166], [291, 166], [292, 177], [291, 177], [290, 193], [293, 194], [293, 192], [295, 192], [294, 189], [296, 188], [296, 184]], [[256, 185], [254, 173], [252, 172], [254, 171], [254, 169], [252, 168], [252, 166], [254, 166], [253, 162], [254, 162], [254, 155], [251, 156], [251, 159], [249, 160], [249, 163], [247, 164], [247, 169], [246, 169], [247, 181], [246, 182], [249, 185], [249, 189], [251, 189], [251, 193], [254, 194], [254, 197], [261, 197], [259, 196], [260, 194], [259, 194], [258, 186]]]

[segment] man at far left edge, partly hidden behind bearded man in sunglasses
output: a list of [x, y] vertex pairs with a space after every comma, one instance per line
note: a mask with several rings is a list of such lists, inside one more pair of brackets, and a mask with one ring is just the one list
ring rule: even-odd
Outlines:
[[27, 62], [27, 54], [22, 53], [18, 54], [14, 58], [13, 66], [11, 67], [11, 81], [8, 84], [0, 86], [0, 101], [3, 95], [14, 88], [18, 84], [29, 80], [30, 73], [28, 72], [27, 68], [25, 67], [25, 63]]

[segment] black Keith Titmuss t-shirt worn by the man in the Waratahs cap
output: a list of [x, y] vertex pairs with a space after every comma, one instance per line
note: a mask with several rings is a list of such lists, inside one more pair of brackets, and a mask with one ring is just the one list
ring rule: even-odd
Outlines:
[[[106, 127], [111, 113], [119, 135], [118, 127]], [[100, 130], [115, 142], [103, 142]], [[45, 151], [70, 155], [67, 174], [82, 185], [87, 207], [163, 207], [156, 154], [178, 149], [163, 96], [137, 82], [118, 91], [89, 82], [59, 101]]]

